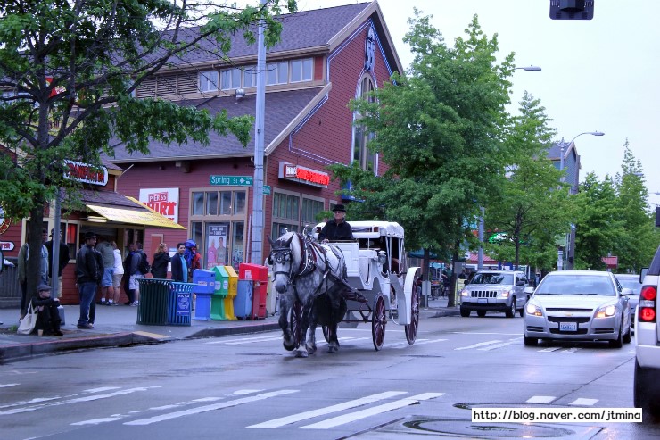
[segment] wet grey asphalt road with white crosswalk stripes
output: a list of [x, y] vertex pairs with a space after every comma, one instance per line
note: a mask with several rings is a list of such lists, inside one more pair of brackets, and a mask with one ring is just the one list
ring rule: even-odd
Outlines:
[[[340, 328], [307, 359], [279, 332], [65, 353], [0, 366], [3, 439], [650, 439], [645, 423], [486, 423], [471, 408], [631, 408], [634, 345], [525, 347], [522, 319]], [[323, 336], [318, 333], [319, 341]]]

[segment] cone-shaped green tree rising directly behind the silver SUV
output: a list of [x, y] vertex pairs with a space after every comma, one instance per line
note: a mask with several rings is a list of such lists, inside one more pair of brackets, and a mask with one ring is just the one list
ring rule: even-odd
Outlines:
[[549, 128], [545, 107], [525, 91], [519, 111], [505, 138], [511, 154], [507, 175], [499, 180], [499, 197], [487, 204], [484, 220], [499, 233], [489, 250], [501, 261], [514, 262], [516, 268], [521, 249], [527, 251], [523, 262], [529, 263], [532, 254], [547, 253], [548, 242], [556, 261], [554, 237], [569, 230], [573, 214], [572, 197], [562, 183], [564, 171], [547, 159], [556, 130]]

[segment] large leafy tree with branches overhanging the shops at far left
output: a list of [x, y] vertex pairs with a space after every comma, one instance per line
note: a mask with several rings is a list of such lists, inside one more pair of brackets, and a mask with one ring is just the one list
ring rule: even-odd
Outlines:
[[[9, 218], [29, 217], [30, 246], [41, 245], [48, 201], [60, 187], [75, 188], [62, 177], [65, 158], [98, 165], [100, 154], [112, 155], [111, 138], [144, 154], [150, 139], [205, 144], [211, 129], [246, 145], [251, 118], [211, 116], [161, 99], [139, 100], [133, 92], [191, 50], [222, 58], [232, 34], [253, 42], [259, 20], [272, 46], [281, 24], [271, 14], [282, 3], [268, 0], [243, 10], [162, 0], [0, 4], [0, 203]], [[287, 0], [285, 6], [294, 11], [296, 4]], [[29, 258], [29, 273], [37, 268], [37, 259]], [[36, 278], [29, 277], [29, 294], [36, 288]]]

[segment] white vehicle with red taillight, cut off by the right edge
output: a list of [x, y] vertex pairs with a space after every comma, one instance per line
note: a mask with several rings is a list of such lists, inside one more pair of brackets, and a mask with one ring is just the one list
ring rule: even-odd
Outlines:
[[[643, 273], [643, 272], [642, 272]], [[660, 247], [642, 282], [635, 314], [635, 377], [633, 402], [660, 419], [660, 327], [657, 291], [660, 289]]]

